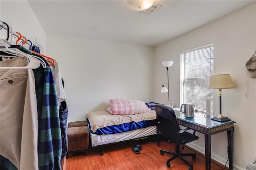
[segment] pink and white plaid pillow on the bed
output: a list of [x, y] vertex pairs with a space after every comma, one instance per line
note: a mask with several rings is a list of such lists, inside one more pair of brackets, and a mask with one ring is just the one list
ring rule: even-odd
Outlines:
[[132, 115], [151, 110], [140, 100], [110, 99], [109, 103], [107, 111], [112, 115]]

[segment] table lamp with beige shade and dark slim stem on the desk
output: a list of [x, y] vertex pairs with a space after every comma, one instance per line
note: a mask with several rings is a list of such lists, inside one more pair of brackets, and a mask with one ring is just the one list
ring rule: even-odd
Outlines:
[[211, 120], [218, 122], [231, 121], [231, 119], [229, 119], [228, 117], [224, 117], [221, 114], [221, 90], [230, 89], [234, 87], [234, 83], [229, 74], [211, 75], [209, 89], [219, 89], [220, 96], [220, 115], [218, 115], [217, 117], [213, 117]]

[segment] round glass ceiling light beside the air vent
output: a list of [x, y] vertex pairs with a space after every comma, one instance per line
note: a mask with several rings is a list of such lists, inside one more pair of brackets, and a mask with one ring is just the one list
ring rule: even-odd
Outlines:
[[153, 0], [127, 0], [127, 5], [136, 11], [143, 11], [153, 5]]

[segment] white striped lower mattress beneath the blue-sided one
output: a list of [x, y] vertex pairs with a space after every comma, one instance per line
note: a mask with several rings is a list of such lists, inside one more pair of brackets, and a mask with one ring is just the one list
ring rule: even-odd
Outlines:
[[96, 147], [96, 146], [101, 146], [105, 144], [121, 142], [125, 140], [143, 138], [153, 134], [156, 134], [156, 126], [139, 128], [139, 129], [128, 131], [128, 132], [115, 133], [115, 134], [97, 135], [97, 134], [91, 133], [90, 137], [91, 137], [92, 147]]

